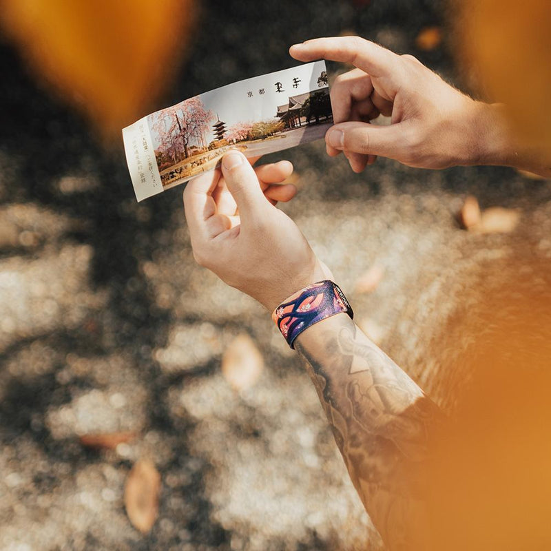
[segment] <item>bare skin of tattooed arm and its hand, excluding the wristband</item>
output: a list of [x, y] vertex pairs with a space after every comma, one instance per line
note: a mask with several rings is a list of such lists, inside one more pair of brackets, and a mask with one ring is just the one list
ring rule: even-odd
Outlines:
[[[333, 278], [267, 197], [290, 170], [290, 163], [275, 163], [255, 171], [229, 152], [221, 171], [191, 180], [184, 191], [196, 260], [269, 310], [306, 284]], [[309, 327], [295, 347], [388, 548], [427, 549], [423, 492], [436, 406], [346, 314]]]

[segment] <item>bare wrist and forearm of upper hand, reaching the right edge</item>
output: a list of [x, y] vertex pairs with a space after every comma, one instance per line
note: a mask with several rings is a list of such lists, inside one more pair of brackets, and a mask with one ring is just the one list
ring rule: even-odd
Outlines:
[[475, 102], [470, 118], [476, 150], [468, 164], [513, 167], [551, 178], [550, 152], [523, 142], [510, 126], [504, 105]]

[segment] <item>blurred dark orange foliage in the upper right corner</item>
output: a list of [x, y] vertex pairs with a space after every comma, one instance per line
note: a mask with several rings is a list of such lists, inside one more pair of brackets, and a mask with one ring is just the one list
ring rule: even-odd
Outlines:
[[528, 145], [551, 147], [551, 3], [464, 0], [464, 53]]

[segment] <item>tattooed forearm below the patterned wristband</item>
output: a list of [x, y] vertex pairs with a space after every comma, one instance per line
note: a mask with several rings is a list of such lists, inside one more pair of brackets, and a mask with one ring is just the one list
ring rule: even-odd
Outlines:
[[353, 484], [389, 549], [424, 549], [424, 492], [441, 413], [345, 314], [295, 342]]

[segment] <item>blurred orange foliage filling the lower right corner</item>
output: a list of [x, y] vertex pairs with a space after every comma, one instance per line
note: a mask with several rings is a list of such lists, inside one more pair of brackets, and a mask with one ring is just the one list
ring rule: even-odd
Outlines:
[[435, 357], [459, 352], [427, 476], [435, 549], [551, 549], [550, 267], [530, 249], [488, 266], [479, 300], [435, 344]]

